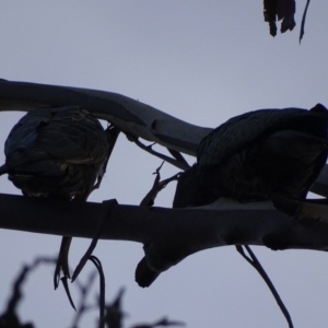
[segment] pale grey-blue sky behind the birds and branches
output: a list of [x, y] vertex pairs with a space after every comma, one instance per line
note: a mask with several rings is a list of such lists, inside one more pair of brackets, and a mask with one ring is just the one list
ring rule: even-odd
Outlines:
[[[311, 3], [302, 46], [305, 0], [296, 2], [295, 31], [272, 38], [262, 1], [2, 1], [0, 78], [117, 92], [208, 127], [258, 108], [327, 106], [328, 2]], [[1, 113], [0, 140], [4, 142], [20, 116]], [[139, 203], [160, 164], [120, 137], [103, 186], [91, 200]], [[162, 174], [176, 172], [165, 164]], [[20, 194], [5, 176], [0, 192]], [[173, 195], [172, 185], [156, 206], [169, 207]], [[60, 237], [0, 233], [2, 309], [21, 266], [37, 255], [57, 255]], [[72, 266], [87, 245], [73, 241]], [[327, 327], [327, 254], [254, 250], [295, 327]], [[133, 279], [141, 245], [101, 242], [95, 255], [106, 273], [107, 300], [127, 288], [127, 324], [168, 315], [189, 328], [286, 327], [267, 286], [234, 247], [192, 255], [147, 290]], [[62, 289], [54, 292], [52, 272], [43, 268], [30, 278], [21, 306], [22, 317], [38, 328], [68, 327], [73, 315]], [[87, 315], [81, 327], [94, 327], [96, 315]]]

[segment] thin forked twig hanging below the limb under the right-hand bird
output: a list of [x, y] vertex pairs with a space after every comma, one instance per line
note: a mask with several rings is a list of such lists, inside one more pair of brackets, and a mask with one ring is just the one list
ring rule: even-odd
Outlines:
[[267, 274], [267, 272], [265, 271], [265, 269], [262, 268], [262, 266], [260, 265], [259, 260], [257, 259], [257, 257], [255, 256], [255, 254], [253, 253], [253, 250], [250, 249], [249, 246], [244, 245], [244, 247], [246, 248], [246, 250], [248, 251], [250, 258], [244, 253], [243, 246], [242, 245], [236, 245], [236, 249], [237, 251], [244, 257], [244, 259], [247, 260], [247, 262], [253, 266], [258, 273], [262, 277], [262, 279], [265, 280], [265, 282], [267, 283], [268, 288], [270, 289], [276, 302], [278, 303], [281, 312], [283, 313], [289, 327], [293, 328], [293, 323], [292, 323], [292, 318], [290, 316], [289, 311], [286, 309], [286, 307], [284, 306], [281, 297], [279, 296], [273, 283], [271, 282], [269, 276]]

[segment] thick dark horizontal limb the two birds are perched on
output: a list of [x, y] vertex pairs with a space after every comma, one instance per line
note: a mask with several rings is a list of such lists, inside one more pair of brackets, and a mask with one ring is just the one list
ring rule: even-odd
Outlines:
[[112, 211], [106, 202], [77, 204], [0, 195], [0, 227], [93, 238], [95, 222], [105, 215], [99, 238], [147, 245], [147, 262], [156, 271], [164, 271], [194, 253], [226, 245], [328, 250], [327, 223], [293, 220], [270, 203], [232, 204], [221, 209], [214, 206], [194, 209], [109, 206]]

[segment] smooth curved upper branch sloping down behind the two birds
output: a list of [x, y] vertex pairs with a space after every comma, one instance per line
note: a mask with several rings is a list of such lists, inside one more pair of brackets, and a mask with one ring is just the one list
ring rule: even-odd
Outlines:
[[195, 155], [212, 129], [190, 125], [127, 96], [98, 90], [0, 80], [0, 110], [78, 105], [125, 133]]

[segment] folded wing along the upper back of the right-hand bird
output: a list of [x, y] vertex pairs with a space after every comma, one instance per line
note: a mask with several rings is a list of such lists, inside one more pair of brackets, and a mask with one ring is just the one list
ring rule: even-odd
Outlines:
[[[295, 129], [302, 131], [307, 129], [315, 133], [316, 128], [313, 124], [327, 126], [328, 112], [323, 105], [317, 105], [313, 109], [315, 110], [298, 108], [259, 109], [233, 117], [201, 140], [197, 149], [198, 165], [218, 165], [222, 160], [255, 142], [258, 138], [263, 138], [279, 130]], [[323, 120], [323, 118], [325, 119]], [[326, 131], [326, 129], [321, 130]]]

